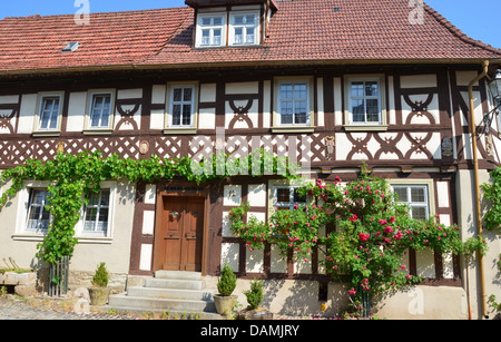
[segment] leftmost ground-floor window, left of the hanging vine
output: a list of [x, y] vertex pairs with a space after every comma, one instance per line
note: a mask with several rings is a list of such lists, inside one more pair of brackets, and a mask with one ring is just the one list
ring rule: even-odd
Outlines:
[[46, 188], [31, 188], [28, 202], [28, 219], [26, 229], [31, 233], [43, 233], [49, 228], [50, 213], [47, 211]]

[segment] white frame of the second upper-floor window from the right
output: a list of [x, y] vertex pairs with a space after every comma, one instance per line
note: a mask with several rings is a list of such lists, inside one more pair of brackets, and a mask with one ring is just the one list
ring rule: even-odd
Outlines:
[[[306, 86], [306, 96], [302, 97], [302, 98], [294, 98], [294, 87], [295, 86], [299, 86], [299, 85], [304, 85]], [[291, 99], [286, 99], [286, 98], [282, 98], [282, 87], [283, 86], [292, 86], [293, 87], [293, 98]], [[311, 81], [308, 79], [289, 79], [289, 80], [278, 80], [277, 82], [277, 87], [276, 87], [276, 98], [277, 98], [277, 107], [276, 107], [276, 126], [277, 127], [310, 127], [312, 126], [312, 110], [311, 110], [311, 102], [312, 102], [312, 94], [311, 94]], [[301, 123], [301, 124], [296, 124], [295, 123], [295, 104], [299, 102], [299, 101], [305, 101], [306, 102], [306, 123]], [[282, 123], [282, 104], [283, 102], [292, 102], [293, 104], [293, 123], [292, 124], [283, 124]]]

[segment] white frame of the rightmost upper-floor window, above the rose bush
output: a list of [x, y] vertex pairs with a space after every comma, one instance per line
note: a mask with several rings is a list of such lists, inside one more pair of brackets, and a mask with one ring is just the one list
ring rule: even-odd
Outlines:
[[[379, 95], [377, 96], [352, 96], [352, 84], [363, 81], [364, 85], [367, 81], [377, 82]], [[385, 90], [385, 77], [384, 75], [351, 75], [345, 78], [345, 125], [346, 130], [386, 130], [387, 117], [386, 117], [386, 90]], [[377, 121], [367, 121], [367, 110], [364, 109], [364, 121], [353, 120], [353, 101], [363, 99], [364, 108], [366, 108], [367, 99], [377, 99]]]

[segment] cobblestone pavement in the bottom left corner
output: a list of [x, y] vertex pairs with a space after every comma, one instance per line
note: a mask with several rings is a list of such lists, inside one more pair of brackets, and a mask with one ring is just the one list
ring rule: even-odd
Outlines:
[[[37, 304], [38, 301], [38, 304]], [[40, 305], [51, 300], [17, 299], [13, 296], [0, 297], [0, 321], [68, 321], [68, 320], [138, 320], [137, 317], [108, 314], [105, 312], [75, 313], [57, 306]]]

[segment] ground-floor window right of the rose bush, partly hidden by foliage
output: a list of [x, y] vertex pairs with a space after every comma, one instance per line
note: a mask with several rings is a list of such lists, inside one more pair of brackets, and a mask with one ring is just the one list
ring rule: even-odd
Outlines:
[[411, 217], [428, 219], [430, 216], [429, 194], [426, 185], [393, 185], [399, 202], [405, 203]]

